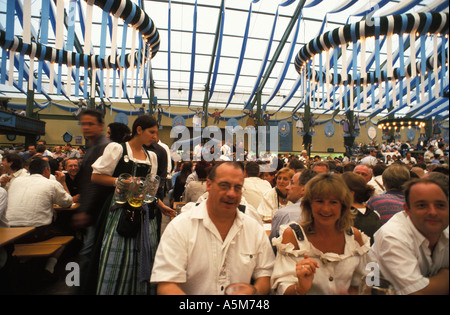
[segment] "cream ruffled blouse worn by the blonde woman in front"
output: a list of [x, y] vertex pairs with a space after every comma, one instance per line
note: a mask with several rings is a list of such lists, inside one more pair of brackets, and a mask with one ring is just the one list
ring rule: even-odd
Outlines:
[[[291, 222], [292, 223], [292, 222]], [[345, 249], [343, 254], [323, 253], [315, 248], [307, 239], [297, 239], [299, 249], [294, 249], [291, 243], [283, 244], [283, 233], [289, 225], [280, 227], [280, 237], [274, 238], [272, 244], [277, 247], [277, 256], [271, 278], [272, 289], [276, 294], [284, 294], [286, 289], [298, 282], [295, 272], [296, 264], [308, 255], [319, 264], [314, 274], [311, 289], [307, 294], [333, 295], [345, 294], [351, 286], [358, 287], [363, 276], [370, 272], [366, 270], [370, 262], [368, 251], [370, 238], [361, 232], [361, 246], [353, 235], [345, 233]], [[300, 227], [301, 228], [301, 227]]]

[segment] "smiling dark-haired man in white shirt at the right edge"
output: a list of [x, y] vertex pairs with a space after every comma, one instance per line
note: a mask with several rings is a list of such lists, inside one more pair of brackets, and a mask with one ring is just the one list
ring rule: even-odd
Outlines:
[[449, 294], [448, 180], [405, 187], [405, 211], [375, 233], [371, 254], [396, 294]]

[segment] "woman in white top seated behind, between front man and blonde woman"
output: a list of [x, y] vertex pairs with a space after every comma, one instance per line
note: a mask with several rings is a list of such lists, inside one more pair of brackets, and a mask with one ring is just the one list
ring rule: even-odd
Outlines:
[[292, 204], [292, 202], [287, 199], [287, 186], [289, 186], [294, 174], [292, 169], [284, 167], [275, 175], [275, 187], [263, 195], [257, 208], [257, 211], [264, 222], [272, 222], [273, 216], [278, 209]]

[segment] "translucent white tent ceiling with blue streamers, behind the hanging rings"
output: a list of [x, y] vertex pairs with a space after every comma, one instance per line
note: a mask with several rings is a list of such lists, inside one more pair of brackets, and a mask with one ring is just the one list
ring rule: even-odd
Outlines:
[[[49, 22], [45, 23], [45, 25], [48, 24], [48, 30], [45, 31], [47, 46], [67, 50], [70, 39], [72, 41], [70, 51], [77, 51], [77, 45], [79, 45], [78, 50], [81, 51], [78, 53], [108, 56], [111, 52], [114, 53], [114, 47], [119, 55], [122, 48], [125, 48], [123, 51], [127, 54], [131, 52], [137, 54], [139, 51], [142, 54], [147, 53], [144, 49], [139, 50], [140, 47], [144, 48], [145, 46], [140, 46], [139, 37], [133, 41], [133, 36], [130, 35], [133, 34], [130, 30], [132, 27], [128, 27], [128, 36], [124, 39], [124, 21], [121, 19], [118, 20], [118, 27], [114, 35], [117, 38], [113, 39], [114, 27], [111, 23], [114, 21], [114, 17], [110, 16], [108, 20], [108, 16], [103, 14], [98, 4], [111, 6], [113, 2], [120, 3], [120, 1], [0, 0], [0, 30], [6, 32], [5, 36], [8, 36], [8, 26], [13, 23], [13, 33], [11, 34], [10, 31], [9, 36], [14, 35], [23, 39], [24, 42], [27, 39], [29, 42], [31, 37], [31, 41], [42, 43], [41, 16], [43, 16], [42, 7], [46, 1], [50, 4], [50, 11], [53, 10], [55, 14], [54, 20], [50, 18]], [[61, 3], [63, 4], [61, 5]], [[151, 61], [150, 58], [144, 60], [142, 56], [136, 55], [132, 63], [137, 68], [128, 68], [125, 77], [123, 72], [118, 74], [118, 77], [115, 78], [117, 81], [115, 81], [116, 91], [114, 94], [111, 92], [114, 89], [112, 74], [114, 71], [111, 71], [108, 74], [109, 79], [106, 79], [107, 70], [103, 70], [101, 80], [99, 79], [100, 72], [97, 72], [97, 80], [100, 80], [103, 87], [101, 90], [97, 88], [94, 91], [96, 101], [99, 102], [100, 98], [105, 98], [115, 104], [114, 106], [130, 109], [130, 103], [134, 105], [136, 96], [139, 100], [142, 97], [142, 102], [148, 104], [151, 96], [154, 95], [157, 97], [158, 104], [185, 107], [186, 112], [189, 109], [201, 108], [205, 102], [205, 96], [206, 99], [209, 99], [210, 111], [215, 108], [243, 110], [249, 101], [254, 100], [254, 96], [251, 97], [252, 93], [263, 80], [263, 78], [257, 80], [259, 75], [268, 74], [267, 69], [272, 64], [273, 68], [269, 76], [264, 78], [262, 104], [270, 112], [292, 113], [299, 108], [299, 104], [301, 105], [305, 101], [301, 88], [295, 90], [297, 80], [301, 75], [296, 71], [294, 65], [295, 57], [305, 44], [320, 34], [377, 16], [428, 11], [448, 13], [448, 3], [442, 0], [132, 0], [131, 3], [135, 7], [141, 8], [156, 26], [158, 45], [157, 47], [153, 46], [154, 56]], [[222, 5], [224, 5], [224, 10], [222, 10]], [[92, 15], [89, 15], [89, 6]], [[300, 8], [299, 19], [293, 20], [294, 13]], [[8, 19], [8, 12], [11, 12], [8, 10], [15, 12], [14, 21], [11, 18]], [[18, 14], [20, 10], [23, 12], [23, 17]], [[66, 23], [61, 24], [64, 19], [61, 19], [58, 14], [64, 11], [58, 10], [65, 11]], [[134, 6], [124, 10], [136, 12]], [[28, 18], [29, 24], [26, 23], [27, 12], [31, 16], [31, 19]], [[73, 17], [73, 20], [68, 17]], [[139, 18], [142, 18], [143, 21], [144, 15], [139, 15]], [[71, 21], [74, 23], [71, 24]], [[222, 21], [223, 24], [220, 23]], [[57, 27], [55, 28], [52, 23]], [[58, 25], [63, 25], [62, 32]], [[73, 37], [69, 35], [71, 25], [74, 26]], [[289, 25], [292, 26], [292, 30], [287, 33], [286, 29]], [[87, 29], [90, 29], [88, 31], [90, 36], [87, 36]], [[102, 35], [102, 30], [103, 33], [106, 31], [106, 36]], [[286, 39], [285, 41], [283, 37]], [[271, 49], [267, 55], [265, 68], [261, 72], [271, 39]], [[295, 40], [294, 43], [293, 40]], [[86, 46], [89, 46], [90, 49], [86, 49]], [[349, 44], [350, 46], [351, 44]], [[427, 52], [431, 49], [428, 46]], [[282, 49], [280, 49], [281, 47]], [[448, 39], [446, 47], [448, 57]], [[395, 52], [397, 48], [394, 45], [390, 49]], [[280, 49], [278, 57], [274, 58], [278, 49]], [[375, 49], [376, 47], [367, 41], [367, 57]], [[195, 54], [192, 53], [193, 51]], [[379, 51], [382, 62], [386, 60], [388, 53], [385, 47]], [[26, 72], [25, 75], [21, 74], [21, 71], [33, 67], [32, 69], [36, 73], [40, 69], [37, 66], [38, 62], [33, 62], [34, 66], [30, 65], [29, 55], [16, 53], [17, 64], [15, 67], [10, 67], [10, 56], [5, 49], [0, 49], [1, 61], [5, 63], [1, 70], [7, 72], [6, 75], [4, 74], [4, 81], [0, 82], [0, 98], [25, 99], [28, 75]], [[350, 54], [347, 57], [349, 58], [349, 56]], [[119, 58], [120, 56], [118, 56], [118, 62], [120, 62]], [[20, 66], [20, 62], [23, 62], [24, 66]], [[315, 67], [317, 68], [318, 65], [316, 64]], [[75, 75], [75, 68], [72, 70]], [[85, 76], [88, 76], [88, 73], [86, 72], [85, 75], [84, 71], [85, 69], [81, 67], [78, 72], [78, 75], [82, 76], [78, 82], [81, 89], [83, 89], [84, 83], [86, 86], [89, 84], [88, 81], [83, 81], [86, 79]], [[140, 74], [139, 71], [141, 71]], [[75, 76], [68, 79], [67, 73], [65, 67], [59, 70], [58, 64], [55, 64], [54, 74], [50, 78], [60, 79], [64, 83], [62, 89], [66, 92], [67, 85], [70, 84], [69, 93], [64, 95], [57, 86], [51, 87], [49, 76], [44, 74], [42, 75], [41, 89], [38, 89], [38, 92], [40, 90], [41, 92], [35, 94], [36, 102], [42, 103], [51, 100], [58, 103], [70, 100], [76, 103], [78, 99], [85, 98], [86, 94], [81, 90], [78, 95], [75, 95], [75, 90], [77, 90]], [[13, 80], [6, 79], [6, 77], [9, 78], [8, 74], [13, 74]], [[58, 75], [60, 76], [58, 77]], [[22, 84], [19, 84], [20, 80], [23, 80]], [[128, 87], [126, 95], [128, 98], [119, 92], [120, 82], [122, 82], [120, 80], [126, 80], [124, 84]], [[446, 88], [448, 95], [448, 71], [443, 81], [445, 81], [443, 87]], [[107, 82], [109, 82], [108, 87], [106, 87]], [[286, 98], [293, 90], [295, 93], [291, 94], [291, 98], [286, 102]], [[234, 93], [230, 95], [233, 91]], [[100, 96], [100, 93], [103, 97]], [[268, 102], [271, 97], [273, 98]], [[405, 109], [400, 109], [396, 114], [405, 114], [414, 105], [415, 103]], [[355, 108], [355, 110], [359, 110], [363, 115], [370, 115], [374, 112], [373, 108]], [[320, 107], [313, 109], [313, 112], [323, 113], [324, 111], [325, 109]], [[385, 114], [386, 112], [384, 110]], [[440, 112], [440, 114], [448, 117], [448, 110]]]

